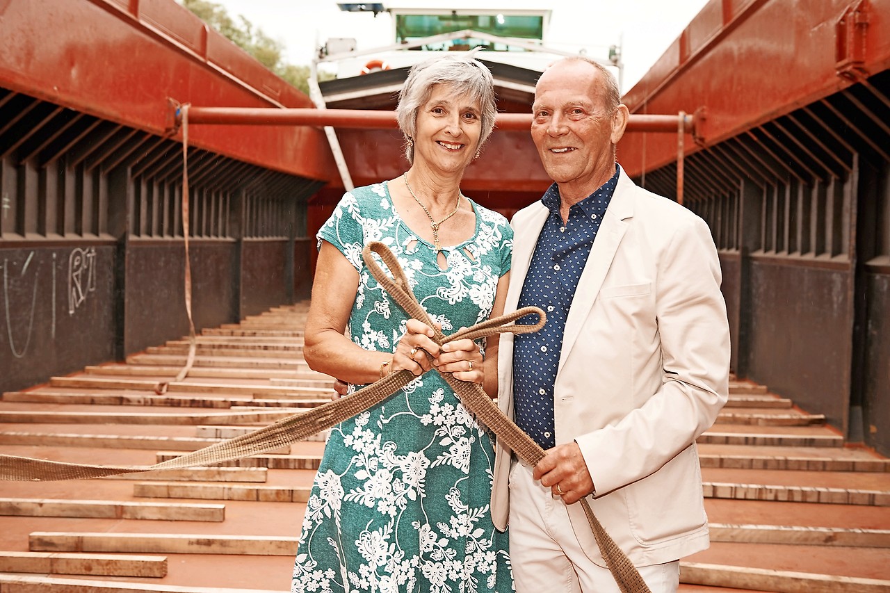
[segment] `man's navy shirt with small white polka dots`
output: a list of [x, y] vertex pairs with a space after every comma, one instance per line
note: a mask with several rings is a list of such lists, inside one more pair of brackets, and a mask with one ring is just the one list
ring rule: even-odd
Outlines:
[[616, 165], [615, 175], [608, 182], [570, 207], [569, 222], [564, 226], [556, 183], [541, 199], [550, 215], [538, 237], [518, 306], [541, 307], [547, 322], [536, 333], [514, 337], [513, 384], [516, 424], [544, 449], [555, 446], [554, 384], [565, 321], [618, 176]]

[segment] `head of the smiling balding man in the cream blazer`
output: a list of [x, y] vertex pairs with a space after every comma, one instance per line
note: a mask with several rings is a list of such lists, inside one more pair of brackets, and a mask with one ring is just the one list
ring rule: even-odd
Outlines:
[[538, 79], [531, 137], [561, 193], [577, 189], [587, 196], [615, 172], [613, 142], [623, 126], [613, 129], [615, 111], [604, 105], [602, 76], [587, 62], [569, 61], [554, 64]]

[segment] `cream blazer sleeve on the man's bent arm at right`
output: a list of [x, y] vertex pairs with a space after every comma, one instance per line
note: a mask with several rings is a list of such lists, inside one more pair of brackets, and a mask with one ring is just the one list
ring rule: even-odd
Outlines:
[[728, 399], [730, 337], [720, 263], [700, 217], [677, 221], [656, 270], [653, 322], [661, 352], [652, 358], [661, 362], [661, 386], [617, 423], [575, 439], [596, 496], [664, 466], [714, 423]]

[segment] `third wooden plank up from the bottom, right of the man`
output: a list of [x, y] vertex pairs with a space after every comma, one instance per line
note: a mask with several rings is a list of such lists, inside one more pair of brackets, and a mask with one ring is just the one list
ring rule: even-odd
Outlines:
[[707, 499], [769, 500], [890, 507], [890, 491], [716, 482], [705, 482], [702, 489]]

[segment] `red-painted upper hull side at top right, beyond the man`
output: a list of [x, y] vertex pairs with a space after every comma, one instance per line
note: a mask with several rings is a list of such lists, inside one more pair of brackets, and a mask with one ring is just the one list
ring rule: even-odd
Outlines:
[[[838, 21], [851, 7], [867, 22], [847, 32]], [[886, 69], [888, 32], [890, 0], [711, 0], [624, 101], [634, 113], [699, 112], [712, 145]], [[639, 175], [675, 160], [676, 142], [628, 134], [620, 158]]]

